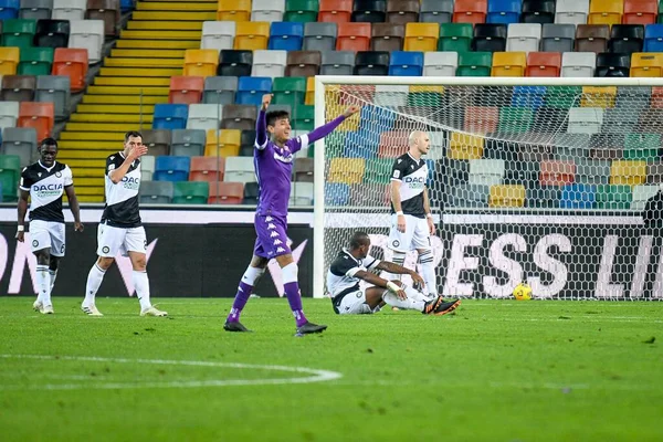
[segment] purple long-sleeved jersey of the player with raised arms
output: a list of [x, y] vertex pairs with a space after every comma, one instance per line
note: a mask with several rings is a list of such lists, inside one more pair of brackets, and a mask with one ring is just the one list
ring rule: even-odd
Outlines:
[[293, 176], [294, 155], [329, 135], [345, 119], [340, 116], [309, 134], [291, 138], [283, 147], [267, 138], [266, 113], [260, 110], [255, 122], [255, 150], [253, 166], [257, 177], [260, 197], [256, 212], [260, 215], [286, 217]]

